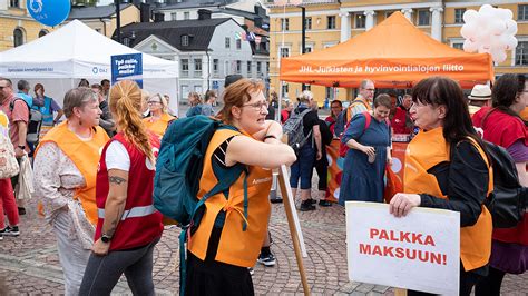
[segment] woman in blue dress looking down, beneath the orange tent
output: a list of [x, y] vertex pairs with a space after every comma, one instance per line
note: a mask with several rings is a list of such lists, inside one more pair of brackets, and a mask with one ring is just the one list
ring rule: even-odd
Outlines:
[[374, 99], [373, 115], [356, 114], [350, 121], [341, 141], [351, 149], [346, 152], [341, 179], [339, 201], [383, 203], [383, 176], [387, 162], [391, 164], [391, 136], [388, 117], [391, 98], [381, 93]]

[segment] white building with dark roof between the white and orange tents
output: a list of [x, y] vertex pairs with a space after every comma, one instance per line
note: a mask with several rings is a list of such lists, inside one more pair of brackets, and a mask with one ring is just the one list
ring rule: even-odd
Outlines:
[[[225, 76], [239, 73], [265, 79], [268, 70], [267, 39], [260, 45], [239, 38], [245, 31], [231, 18], [133, 23], [123, 33], [134, 36], [129, 46], [179, 65], [179, 101], [190, 91], [222, 92]], [[262, 45], [262, 46], [261, 46]]]

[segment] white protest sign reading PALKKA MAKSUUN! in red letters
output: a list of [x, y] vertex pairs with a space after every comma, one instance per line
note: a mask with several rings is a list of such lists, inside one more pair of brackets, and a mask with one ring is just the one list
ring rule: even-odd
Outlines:
[[460, 214], [413, 208], [407, 217], [389, 205], [346, 201], [351, 280], [458, 295]]

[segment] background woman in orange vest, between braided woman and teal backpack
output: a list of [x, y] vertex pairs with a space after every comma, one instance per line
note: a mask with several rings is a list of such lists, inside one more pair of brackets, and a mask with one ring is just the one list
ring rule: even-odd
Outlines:
[[159, 93], [151, 96], [148, 101], [150, 116], [143, 119], [147, 129], [156, 134], [159, 139], [165, 135], [168, 124], [176, 119], [168, 114], [167, 100]]

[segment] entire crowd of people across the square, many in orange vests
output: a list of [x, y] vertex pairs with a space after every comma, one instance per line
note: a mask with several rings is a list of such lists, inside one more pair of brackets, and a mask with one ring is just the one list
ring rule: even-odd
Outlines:
[[[477, 85], [468, 98], [456, 81], [431, 77], [400, 100], [392, 92], [374, 96], [374, 81], [363, 80], [351, 101], [331, 101], [324, 120], [310, 91], [296, 103], [283, 102], [277, 112], [276, 93], [266, 98], [260, 81], [228, 76], [225, 87], [217, 112], [214, 90], [189, 92], [187, 98], [187, 118], [209, 116], [233, 127], [218, 129], [208, 144], [199, 193], [209, 191], [216, 176], [235, 166], [246, 167], [246, 179], [205, 201], [207, 210], [187, 246], [187, 295], [254, 294], [251, 267], [256, 262], [275, 265], [268, 231], [271, 169], [290, 166], [290, 186], [293, 196], [299, 191], [301, 211], [315, 210], [317, 203], [332, 206], [326, 193], [326, 147], [332, 140], [344, 149], [339, 204], [390, 203], [397, 217], [413, 207], [460, 213], [461, 295], [473, 287], [476, 295], [499, 295], [506, 274], [528, 268], [526, 213], [515, 228], [492, 228], [485, 206], [493, 189], [492, 170], [483, 144], [506, 148], [520, 184], [528, 186], [525, 76], [503, 75], [492, 88]], [[82, 79], [66, 92], [60, 107], [41, 83], [33, 87], [35, 95], [25, 80], [17, 89], [0, 78], [0, 136], [10, 139], [17, 159], [32, 158], [35, 197], [57, 239], [65, 293], [108, 295], [124, 274], [135, 295], [154, 295], [153, 251], [164, 230], [153, 201], [155, 164], [164, 134], [179, 120], [168, 96], [149, 95], [128, 80], [110, 87], [106, 79], [92, 85]], [[41, 118], [39, 139], [30, 141], [32, 110]], [[291, 147], [281, 140], [282, 125], [294, 120], [303, 140]], [[403, 191], [389, 201], [384, 176], [392, 164], [394, 135], [412, 140]], [[13, 190], [20, 181], [17, 176], [0, 179], [0, 240], [20, 235], [19, 215], [26, 205]]]

